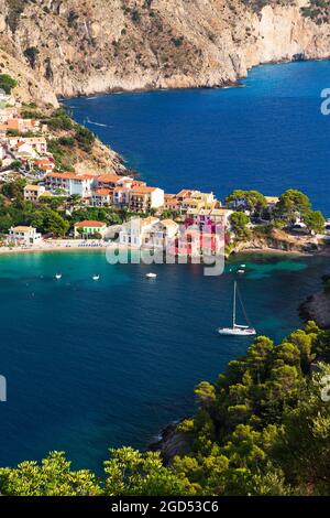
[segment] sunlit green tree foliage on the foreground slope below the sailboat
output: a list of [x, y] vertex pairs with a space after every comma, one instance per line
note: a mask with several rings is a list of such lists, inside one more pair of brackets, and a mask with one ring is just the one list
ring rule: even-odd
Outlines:
[[[189, 453], [110, 451], [105, 474], [72, 471], [64, 453], [0, 468], [2, 495], [330, 495], [330, 332], [314, 322], [279, 345], [260, 336], [215, 385], [196, 388], [183, 421]], [[326, 396], [326, 398], [324, 398]]]

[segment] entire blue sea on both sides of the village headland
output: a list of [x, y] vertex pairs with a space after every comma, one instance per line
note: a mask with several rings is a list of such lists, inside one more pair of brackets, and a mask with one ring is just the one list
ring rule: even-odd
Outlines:
[[[329, 63], [263, 66], [242, 88], [68, 104], [77, 120], [106, 123], [95, 131], [169, 192], [299, 187], [326, 209], [330, 119], [319, 91], [329, 72]], [[241, 263], [250, 320], [275, 341], [301, 324], [299, 303], [330, 270], [326, 258], [278, 255], [235, 257], [221, 277], [198, 265], [110, 266], [102, 251], [1, 256], [0, 465], [61, 450], [75, 467], [100, 472], [109, 447], [144, 449], [194, 412], [195, 385], [215, 380], [250, 344], [216, 332], [231, 322]], [[145, 278], [151, 269], [156, 280]]]

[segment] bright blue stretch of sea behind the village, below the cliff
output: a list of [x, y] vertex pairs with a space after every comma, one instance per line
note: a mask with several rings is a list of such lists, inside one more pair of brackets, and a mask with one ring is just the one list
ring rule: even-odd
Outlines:
[[330, 217], [330, 116], [320, 112], [330, 62], [264, 65], [242, 84], [67, 105], [150, 184], [169, 193], [191, 186], [222, 198], [238, 187], [266, 195], [299, 188]]

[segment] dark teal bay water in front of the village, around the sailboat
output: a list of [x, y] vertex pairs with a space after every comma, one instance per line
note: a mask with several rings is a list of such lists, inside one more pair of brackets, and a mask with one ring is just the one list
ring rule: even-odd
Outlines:
[[191, 412], [194, 386], [249, 345], [216, 333], [231, 321], [241, 262], [250, 319], [276, 339], [299, 325], [297, 302], [329, 270], [321, 258], [245, 256], [219, 278], [200, 266], [161, 265], [150, 281], [151, 267], [110, 266], [100, 251], [2, 256], [0, 465], [56, 449], [75, 466], [99, 470], [108, 447], [144, 447]]

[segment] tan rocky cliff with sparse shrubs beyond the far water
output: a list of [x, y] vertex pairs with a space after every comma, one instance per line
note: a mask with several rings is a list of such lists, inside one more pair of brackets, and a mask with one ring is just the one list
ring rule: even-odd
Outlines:
[[19, 76], [22, 96], [53, 104], [54, 93], [220, 86], [260, 63], [329, 57], [328, 19], [308, 6], [309, 0], [0, 0], [0, 69]]

